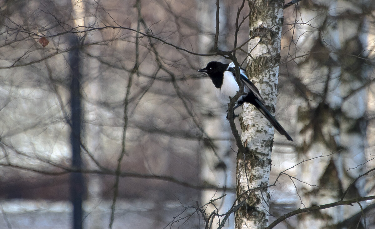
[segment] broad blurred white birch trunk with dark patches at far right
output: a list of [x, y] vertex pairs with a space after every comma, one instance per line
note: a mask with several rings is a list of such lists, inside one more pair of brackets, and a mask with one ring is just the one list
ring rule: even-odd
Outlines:
[[[311, 31], [304, 40], [307, 59], [299, 64], [300, 80], [308, 88], [308, 100], [299, 106], [300, 156], [308, 161], [300, 167], [300, 207], [335, 202], [358, 175], [364, 172], [368, 71], [363, 61], [366, 39], [365, 12], [370, 1], [320, 1], [303, 3], [298, 34]], [[297, 36], [298, 36], [297, 34]], [[312, 35], [312, 36], [311, 36]], [[305, 37], [306, 36], [306, 37]], [[306, 49], [308, 48], [308, 49]], [[297, 55], [298, 56], [298, 55]], [[359, 166], [361, 165], [361, 166]], [[365, 180], [358, 180], [347, 198], [364, 196]], [[365, 207], [362, 203], [362, 206]], [[318, 214], [301, 214], [298, 228], [328, 228], [360, 211], [358, 205], [339, 206]], [[358, 223], [358, 222], [357, 222]]]

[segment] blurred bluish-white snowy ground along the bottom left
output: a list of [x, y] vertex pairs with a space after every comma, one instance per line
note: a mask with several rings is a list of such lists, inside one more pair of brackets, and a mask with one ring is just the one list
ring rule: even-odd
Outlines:
[[[66, 229], [72, 227], [72, 206], [68, 202], [14, 200], [1, 201], [0, 203], [1, 229]], [[85, 203], [84, 228], [108, 228], [111, 204], [111, 201], [101, 201], [96, 205]], [[164, 228], [183, 209], [178, 201], [155, 203], [144, 200], [120, 200], [116, 204], [113, 229]], [[202, 226], [202, 224], [201, 226], [198, 224], [197, 217], [193, 217], [181, 228]]]

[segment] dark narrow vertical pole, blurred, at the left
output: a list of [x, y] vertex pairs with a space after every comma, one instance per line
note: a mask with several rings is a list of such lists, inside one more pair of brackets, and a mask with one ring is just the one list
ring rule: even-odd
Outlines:
[[[68, 54], [68, 61], [71, 67], [71, 144], [72, 144], [72, 168], [81, 170], [81, 93], [80, 93], [80, 71], [79, 71], [79, 48], [76, 36], [71, 36], [69, 40], [72, 50]], [[82, 228], [82, 199], [84, 193], [83, 176], [81, 172], [71, 174], [71, 201], [73, 204], [73, 229]]]

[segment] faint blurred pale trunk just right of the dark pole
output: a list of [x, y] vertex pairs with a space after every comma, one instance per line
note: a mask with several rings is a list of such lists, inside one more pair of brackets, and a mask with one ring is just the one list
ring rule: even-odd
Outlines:
[[[84, 4], [86, 3], [86, 4]], [[80, 12], [82, 15], [85, 25], [95, 25], [99, 23], [98, 18], [102, 18], [102, 12], [99, 11], [96, 6], [95, 0], [88, 0], [86, 2], [77, 2], [77, 6], [84, 9]], [[79, 10], [79, 9], [77, 9]], [[78, 13], [76, 11], [76, 13]], [[95, 15], [95, 16], [93, 16]], [[85, 45], [95, 43], [101, 40], [102, 34], [100, 31], [89, 31], [85, 32], [84, 41]], [[84, 52], [89, 52], [89, 57], [81, 59], [81, 65], [83, 66], [83, 75], [85, 77], [85, 86], [83, 88], [84, 94], [87, 96], [88, 101], [103, 101], [105, 98], [105, 86], [103, 72], [105, 71], [102, 62], [98, 60], [101, 57], [102, 51], [99, 45], [91, 45], [89, 49], [85, 49]], [[104, 146], [101, 144], [105, 141], [102, 133], [105, 131], [104, 119], [105, 112], [95, 103], [84, 103], [85, 113], [84, 120], [87, 122], [84, 125], [84, 133], [87, 148], [96, 159], [105, 155]], [[84, 158], [86, 159], [86, 158]], [[88, 159], [86, 167], [93, 170], [98, 169], [98, 165]], [[104, 183], [99, 174], [88, 174], [87, 178], [87, 207], [89, 208], [87, 216], [85, 216], [85, 226], [87, 228], [106, 228], [107, 220], [104, 219], [98, 206], [103, 200], [103, 187]], [[85, 202], [86, 202], [85, 201]]]

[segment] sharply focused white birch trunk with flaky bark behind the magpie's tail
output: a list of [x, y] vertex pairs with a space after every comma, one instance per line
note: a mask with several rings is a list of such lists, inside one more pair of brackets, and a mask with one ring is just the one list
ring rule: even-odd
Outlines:
[[[250, 6], [250, 42], [246, 71], [260, 89], [267, 109], [275, 114], [284, 1], [253, 0]], [[273, 128], [249, 104], [240, 117], [244, 154], [237, 156], [237, 197], [246, 205], [236, 211], [236, 228], [268, 226], [269, 185]], [[249, 189], [257, 188], [255, 191]]]

